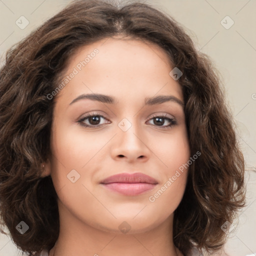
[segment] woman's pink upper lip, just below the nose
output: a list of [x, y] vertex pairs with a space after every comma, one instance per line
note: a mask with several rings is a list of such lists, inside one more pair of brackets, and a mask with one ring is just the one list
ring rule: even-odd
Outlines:
[[109, 176], [103, 179], [100, 183], [109, 184], [109, 183], [149, 183], [149, 184], [157, 184], [158, 182], [143, 173], [119, 173], [112, 176]]

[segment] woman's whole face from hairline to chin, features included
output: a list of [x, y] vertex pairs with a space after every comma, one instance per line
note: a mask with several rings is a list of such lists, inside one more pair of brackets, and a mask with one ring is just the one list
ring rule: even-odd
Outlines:
[[[131, 39], [97, 41], [71, 58], [46, 165], [60, 221], [136, 233], [172, 219], [186, 184], [180, 166], [190, 156], [173, 67], [158, 46]], [[105, 180], [120, 173], [137, 174]]]

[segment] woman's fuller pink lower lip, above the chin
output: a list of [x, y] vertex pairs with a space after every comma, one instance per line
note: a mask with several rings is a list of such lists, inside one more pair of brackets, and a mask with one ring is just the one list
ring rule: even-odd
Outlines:
[[156, 184], [149, 183], [108, 183], [103, 184], [107, 189], [124, 195], [138, 195], [151, 190]]

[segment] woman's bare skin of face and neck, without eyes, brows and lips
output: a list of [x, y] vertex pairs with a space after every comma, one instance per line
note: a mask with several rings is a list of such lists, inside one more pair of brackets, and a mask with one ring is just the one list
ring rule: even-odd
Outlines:
[[[82, 67], [55, 97], [51, 131], [52, 154], [43, 175], [51, 175], [58, 195], [60, 232], [50, 256], [64, 255], [182, 255], [172, 242], [173, 211], [184, 193], [187, 170], [167, 189], [149, 201], [190, 156], [182, 105], [175, 101], [145, 105], [146, 97], [172, 95], [183, 101], [173, 68], [158, 46], [134, 39], [108, 38], [83, 46], [70, 58], [65, 75], [97, 48], [99, 52]], [[80, 94], [115, 97], [116, 104], [81, 99]], [[103, 115], [101, 126], [85, 114]], [[170, 124], [153, 116], [167, 114]], [[131, 127], [118, 123], [126, 118]], [[126, 125], [126, 124], [125, 124]], [[163, 128], [167, 126], [167, 128]], [[72, 183], [67, 174], [80, 177]], [[150, 191], [127, 196], [100, 184], [110, 175], [142, 172], [158, 181]], [[126, 221], [127, 233], [118, 226]], [[122, 224], [123, 225], [123, 224]]]

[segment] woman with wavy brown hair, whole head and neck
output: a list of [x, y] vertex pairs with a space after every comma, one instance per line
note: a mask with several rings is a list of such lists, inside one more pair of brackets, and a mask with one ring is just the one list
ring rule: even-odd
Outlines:
[[0, 122], [2, 225], [29, 255], [216, 252], [244, 205], [216, 70], [148, 4], [74, 1], [19, 42]]

